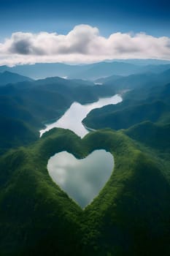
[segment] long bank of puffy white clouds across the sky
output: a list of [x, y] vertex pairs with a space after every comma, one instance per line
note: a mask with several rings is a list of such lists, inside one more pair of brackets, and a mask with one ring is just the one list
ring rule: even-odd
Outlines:
[[102, 37], [98, 28], [75, 26], [68, 34], [15, 32], [0, 42], [0, 64], [90, 63], [105, 59], [170, 59], [170, 38], [117, 32]]

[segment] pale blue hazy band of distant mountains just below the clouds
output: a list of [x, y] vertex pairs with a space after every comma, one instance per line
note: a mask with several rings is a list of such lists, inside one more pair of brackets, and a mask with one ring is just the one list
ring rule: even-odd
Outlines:
[[110, 75], [131, 75], [141, 72], [163, 72], [170, 68], [170, 61], [159, 60], [117, 60], [96, 64], [68, 65], [61, 63], [1, 66], [0, 72], [16, 72], [33, 79], [59, 76], [95, 80]]

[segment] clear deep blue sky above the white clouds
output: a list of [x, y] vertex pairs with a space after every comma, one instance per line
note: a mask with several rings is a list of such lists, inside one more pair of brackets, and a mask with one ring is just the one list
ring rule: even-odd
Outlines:
[[0, 0], [0, 37], [14, 31], [57, 31], [75, 25], [97, 26], [104, 36], [115, 31], [144, 31], [170, 36], [169, 0]]

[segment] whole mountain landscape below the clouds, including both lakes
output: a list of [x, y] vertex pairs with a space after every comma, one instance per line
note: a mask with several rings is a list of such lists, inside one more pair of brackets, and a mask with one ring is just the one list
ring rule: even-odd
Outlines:
[[0, 67], [2, 256], [169, 256], [170, 69], [145, 61]]

